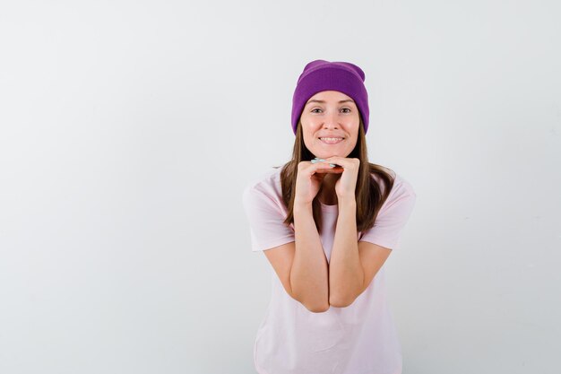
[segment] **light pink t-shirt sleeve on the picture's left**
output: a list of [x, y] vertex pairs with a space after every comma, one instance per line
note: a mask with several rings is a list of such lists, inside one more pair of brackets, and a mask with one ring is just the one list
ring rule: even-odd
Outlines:
[[250, 185], [244, 190], [243, 204], [252, 251], [275, 248], [295, 240], [294, 230], [283, 223], [286, 217], [275, 198]]

